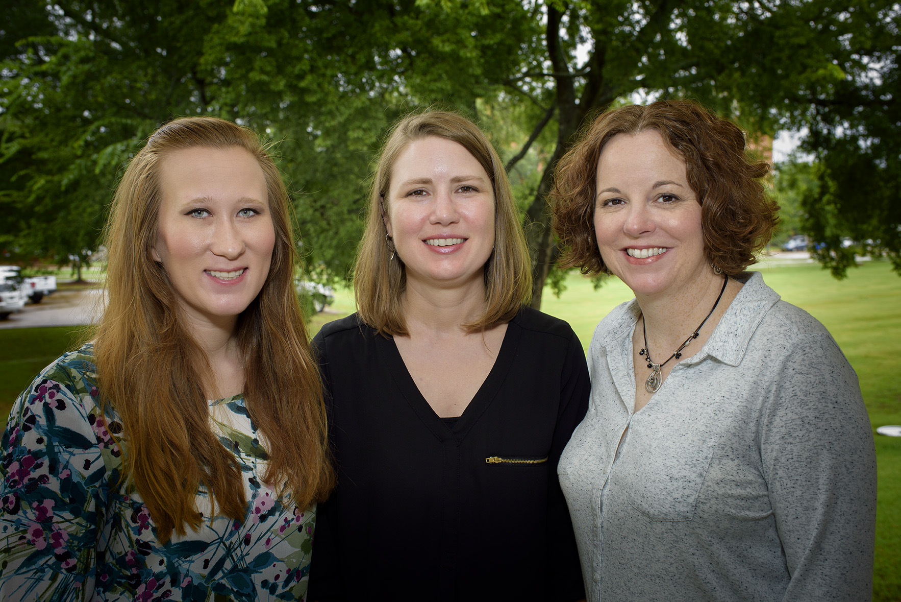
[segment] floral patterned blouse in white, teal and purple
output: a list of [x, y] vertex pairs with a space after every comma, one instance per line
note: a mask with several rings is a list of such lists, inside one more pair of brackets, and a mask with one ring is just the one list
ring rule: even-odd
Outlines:
[[[16, 399], [0, 445], [0, 599], [302, 600], [314, 508], [282, 506], [261, 482], [266, 453], [243, 399], [214, 401], [220, 440], [238, 458], [249, 501], [159, 543], [97, 406], [91, 345], [67, 353]], [[209, 515], [204, 490], [198, 510]]]

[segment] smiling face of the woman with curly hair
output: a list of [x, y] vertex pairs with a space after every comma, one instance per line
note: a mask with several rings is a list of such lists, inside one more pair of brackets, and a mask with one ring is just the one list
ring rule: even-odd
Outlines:
[[596, 178], [598, 250], [636, 296], [687, 292], [711, 270], [685, 161], [660, 132], [616, 135], [601, 152]]

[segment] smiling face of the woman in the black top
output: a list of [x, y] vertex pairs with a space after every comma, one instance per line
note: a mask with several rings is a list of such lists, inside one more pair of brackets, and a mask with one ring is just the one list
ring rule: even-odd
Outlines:
[[393, 166], [386, 211], [408, 285], [484, 287], [495, 195], [469, 150], [434, 136], [410, 142]]

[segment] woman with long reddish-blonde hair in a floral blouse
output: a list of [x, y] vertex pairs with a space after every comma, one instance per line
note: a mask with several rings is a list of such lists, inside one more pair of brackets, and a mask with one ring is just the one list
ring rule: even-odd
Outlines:
[[221, 119], [163, 125], [105, 244], [96, 337], [6, 427], [0, 597], [302, 598], [333, 474], [268, 151]]

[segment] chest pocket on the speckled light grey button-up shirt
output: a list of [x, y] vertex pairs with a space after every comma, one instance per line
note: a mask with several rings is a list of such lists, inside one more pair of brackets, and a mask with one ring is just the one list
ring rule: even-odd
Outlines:
[[708, 428], [713, 416], [641, 418], [633, 418], [610, 493], [618, 489], [651, 520], [690, 521], [716, 447], [716, 432]]

